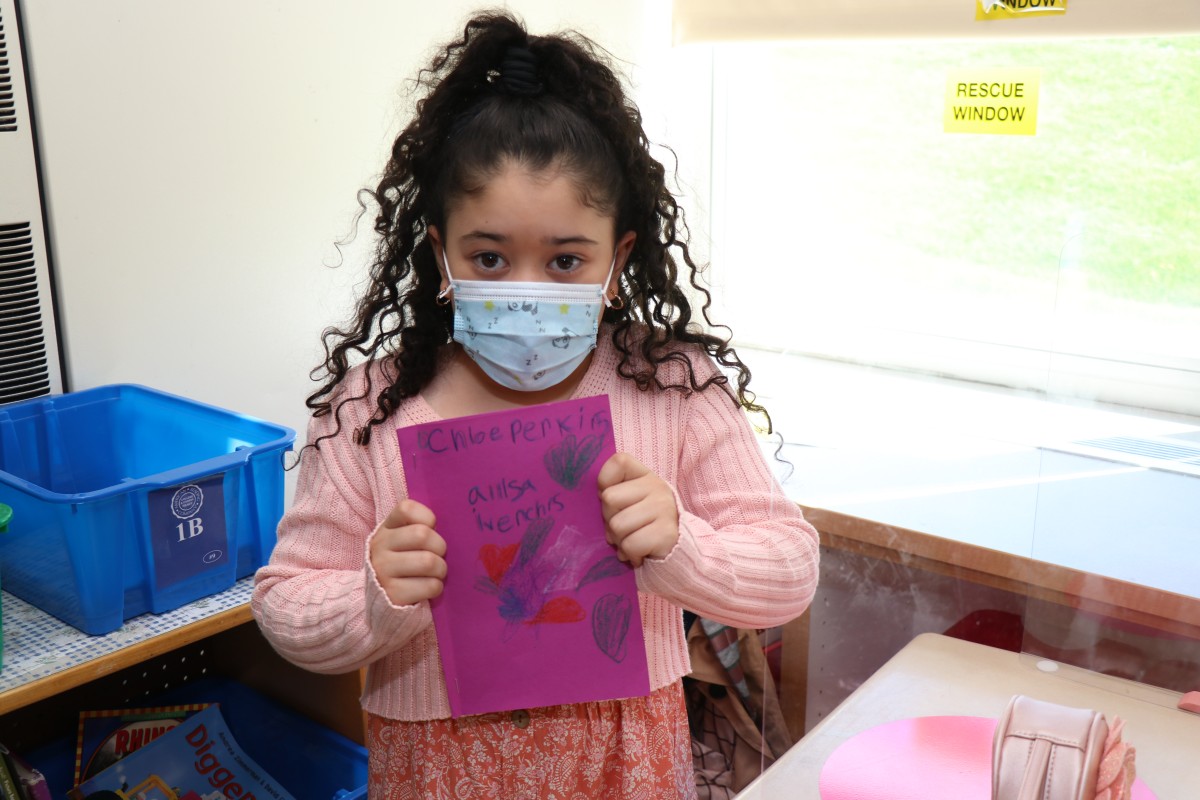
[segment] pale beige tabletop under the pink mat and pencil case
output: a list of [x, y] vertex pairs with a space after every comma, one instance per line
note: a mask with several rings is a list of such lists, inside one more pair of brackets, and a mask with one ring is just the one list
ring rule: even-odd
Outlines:
[[[1045, 672], [1042, 667], [1051, 667]], [[998, 717], [1013, 694], [1091, 708], [1126, 721], [1138, 776], [1160, 800], [1200, 796], [1200, 715], [1180, 694], [1007, 650], [924, 633], [797, 742], [739, 800], [817, 800], [826, 759], [851, 736], [917, 716]]]

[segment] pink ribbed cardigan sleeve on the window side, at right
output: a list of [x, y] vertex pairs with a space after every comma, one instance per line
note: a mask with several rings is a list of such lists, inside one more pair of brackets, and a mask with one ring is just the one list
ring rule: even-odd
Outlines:
[[799, 616], [816, 591], [816, 529], [784, 494], [727, 392], [710, 386], [683, 405], [679, 541], [643, 563], [641, 589], [736, 627]]

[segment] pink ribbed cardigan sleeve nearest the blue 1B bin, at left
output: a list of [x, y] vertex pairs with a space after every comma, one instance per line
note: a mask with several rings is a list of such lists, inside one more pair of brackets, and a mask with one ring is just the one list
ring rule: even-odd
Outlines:
[[[308, 441], [332, 433], [314, 417]], [[365, 667], [432, 624], [428, 603], [394, 606], [377, 579], [368, 543], [378, 521], [366, 449], [342, 431], [301, 453], [295, 500], [278, 527], [270, 563], [254, 576], [251, 608], [265, 638], [312, 672]]]

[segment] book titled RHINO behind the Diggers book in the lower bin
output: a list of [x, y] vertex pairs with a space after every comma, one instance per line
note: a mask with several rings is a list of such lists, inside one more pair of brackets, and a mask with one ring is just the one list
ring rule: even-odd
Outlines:
[[108, 769], [130, 753], [173, 729], [208, 703], [79, 712], [74, 783]]

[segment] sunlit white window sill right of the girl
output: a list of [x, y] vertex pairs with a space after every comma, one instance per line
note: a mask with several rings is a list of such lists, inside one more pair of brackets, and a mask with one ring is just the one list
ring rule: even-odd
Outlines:
[[[743, 350], [798, 503], [1200, 596], [1200, 470], [1073, 443], [1200, 450], [1200, 419]], [[774, 445], [764, 449], [770, 456]], [[1064, 452], [1066, 451], [1066, 452]], [[1162, 467], [1162, 465], [1160, 465]]]

